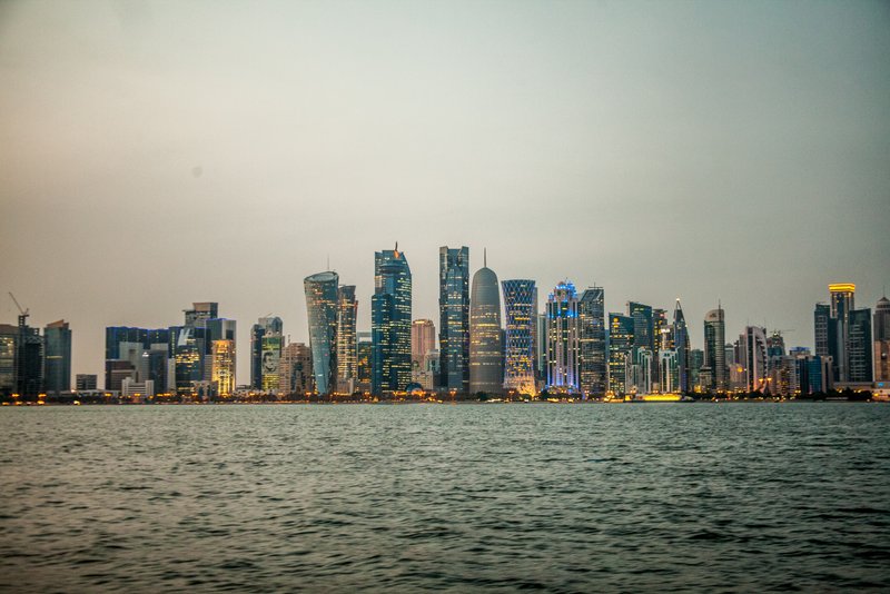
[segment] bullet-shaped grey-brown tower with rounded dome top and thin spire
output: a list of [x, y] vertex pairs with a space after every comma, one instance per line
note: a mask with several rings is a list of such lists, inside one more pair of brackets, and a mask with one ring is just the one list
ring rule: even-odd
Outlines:
[[497, 275], [484, 266], [473, 275], [473, 294], [469, 300], [471, 394], [503, 394], [503, 356], [501, 289], [497, 286]]

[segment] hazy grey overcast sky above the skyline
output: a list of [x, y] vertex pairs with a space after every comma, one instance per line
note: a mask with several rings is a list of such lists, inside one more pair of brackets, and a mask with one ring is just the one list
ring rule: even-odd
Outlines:
[[[831, 281], [890, 284], [888, 2], [0, 3], [0, 289], [106, 326], [192, 301], [307, 341], [303, 278], [398, 241], [812, 346]], [[0, 323], [17, 309], [0, 297]], [[101, 379], [100, 379], [101, 384]]]

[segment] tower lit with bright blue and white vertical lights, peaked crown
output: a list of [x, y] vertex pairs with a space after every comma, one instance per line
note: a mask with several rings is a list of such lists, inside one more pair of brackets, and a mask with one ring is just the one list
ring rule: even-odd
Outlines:
[[577, 394], [580, 384], [578, 300], [565, 280], [547, 297], [547, 390]]

